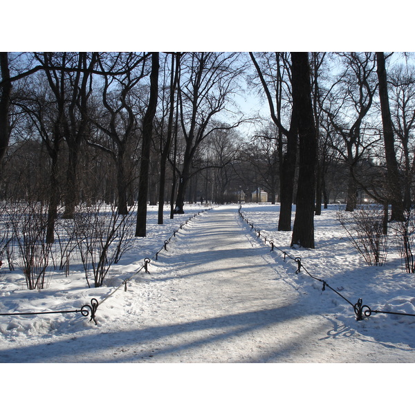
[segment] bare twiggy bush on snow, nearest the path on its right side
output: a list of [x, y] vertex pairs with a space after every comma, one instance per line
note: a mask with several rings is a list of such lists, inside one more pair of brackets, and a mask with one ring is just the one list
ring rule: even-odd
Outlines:
[[353, 212], [339, 210], [338, 221], [367, 264], [385, 265], [388, 246], [387, 234], [383, 232], [382, 206], [360, 205]]

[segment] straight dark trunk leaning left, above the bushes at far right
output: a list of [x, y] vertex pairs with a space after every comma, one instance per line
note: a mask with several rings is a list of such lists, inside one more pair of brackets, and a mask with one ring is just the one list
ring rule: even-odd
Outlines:
[[385, 157], [387, 166], [387, 180], [389, 184], [389, 200], [391, 203], [391, 221], [404, 221], [402, 202], [402, 186], [399, 180], [399, 169], [396, 161], [394, 130], [389, 109], [389, 96], [387, 93], [387, 76], [385, 69], [385, 55], [376, 52], [376, 62], [379, 80], [380, 110], [382, 113], [383, 138], [385, 141]]

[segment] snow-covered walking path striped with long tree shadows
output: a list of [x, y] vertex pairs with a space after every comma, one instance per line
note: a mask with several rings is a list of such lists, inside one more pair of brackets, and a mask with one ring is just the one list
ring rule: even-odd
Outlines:
[[414, 362], [414, 351], [347, 326], [239, 219], [216, 208], [103, 302], [98, 325], [17, 339], [0, 362]]

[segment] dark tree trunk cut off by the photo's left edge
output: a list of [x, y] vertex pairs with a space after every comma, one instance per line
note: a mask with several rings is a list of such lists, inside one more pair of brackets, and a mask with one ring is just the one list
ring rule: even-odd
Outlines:
[[8, 53], [0, 52], [0, 162], [8, 147], [10, 138], [9, 108], [12, 82], [10, 82], [10, 70], [8, 66]]

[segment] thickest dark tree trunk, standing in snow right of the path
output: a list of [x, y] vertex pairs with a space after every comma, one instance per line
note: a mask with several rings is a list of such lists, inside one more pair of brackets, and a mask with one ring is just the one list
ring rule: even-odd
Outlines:
[[291, 246], [314, 248], [315, 167], [317, 163], [317, 133], [311, 102], [308, 53], [291, 53], [293, 76], [293, 106], [297, 109], [299, 136], [299, 176], [297, 208]]

